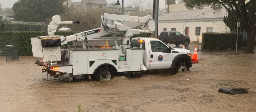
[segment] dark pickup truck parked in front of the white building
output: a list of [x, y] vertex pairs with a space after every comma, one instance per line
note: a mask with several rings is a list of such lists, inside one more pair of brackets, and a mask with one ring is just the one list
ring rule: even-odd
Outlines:
[[184, 36], [183, 34], [177, 31], [162, 31], [158, 38], [165, 44], [169, 43], [175, 44], [177, 46], [179, 46], [180, 44], [188, 46], [190, 43], [189, 36]]

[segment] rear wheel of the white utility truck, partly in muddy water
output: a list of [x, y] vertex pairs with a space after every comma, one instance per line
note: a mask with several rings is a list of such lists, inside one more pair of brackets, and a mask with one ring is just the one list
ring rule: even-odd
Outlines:
[[102, 68], [95, 74], [96, 81], [108, 81], [114, 77], [114, 72], [110, 68]]

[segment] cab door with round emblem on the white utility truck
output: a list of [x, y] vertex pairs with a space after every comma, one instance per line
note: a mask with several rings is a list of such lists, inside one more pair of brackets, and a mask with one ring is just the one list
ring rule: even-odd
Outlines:
[[169, 47], [157, 40], [151, 40], [149, 43], [149, 70], [169, 69], [172, 65], [172, 53], [168, 53]]

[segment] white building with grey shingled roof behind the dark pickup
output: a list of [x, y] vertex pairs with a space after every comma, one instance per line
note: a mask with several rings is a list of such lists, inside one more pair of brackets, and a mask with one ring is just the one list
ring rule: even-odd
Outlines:
[[229, 33], [230, 29], [223, 22], [227, 15], [225, 8], [203, 8], [201, 10], [170, 11], [159, 16], [158, 34], [161, 31], [178, 31], [190, 37], [191, 41], [201, 43], [201, 35], [204, 32]]

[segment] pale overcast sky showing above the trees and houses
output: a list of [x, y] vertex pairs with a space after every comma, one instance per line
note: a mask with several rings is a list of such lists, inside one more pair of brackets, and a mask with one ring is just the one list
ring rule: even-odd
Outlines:
[[[78, 1], [81, 1], [81, 0], [73, 0], [74, 2], [78, 2]], [[116, 2], [117, 0], [106, 0], [108, 3], [112, 3], [112, 2]], [[122, 0], [119, 0], [120, 3]], [[149, 1], [149, 0], [146, 0], [146, 1]], [[153, 0], [151, 0], [153, 2]], [[2, 8], [12, 8], [12, 5], [15, 3], [15, 2], [18, 2], [18, 0], [0, 0], [0, 3], [2, 3]], [[130, 4], [130, 0], [124, 0], [124, 6], [127, 6]], [[165, 0], [159, 0], [159, 7], [161, 9], [163, 9], [165, 6]]]

